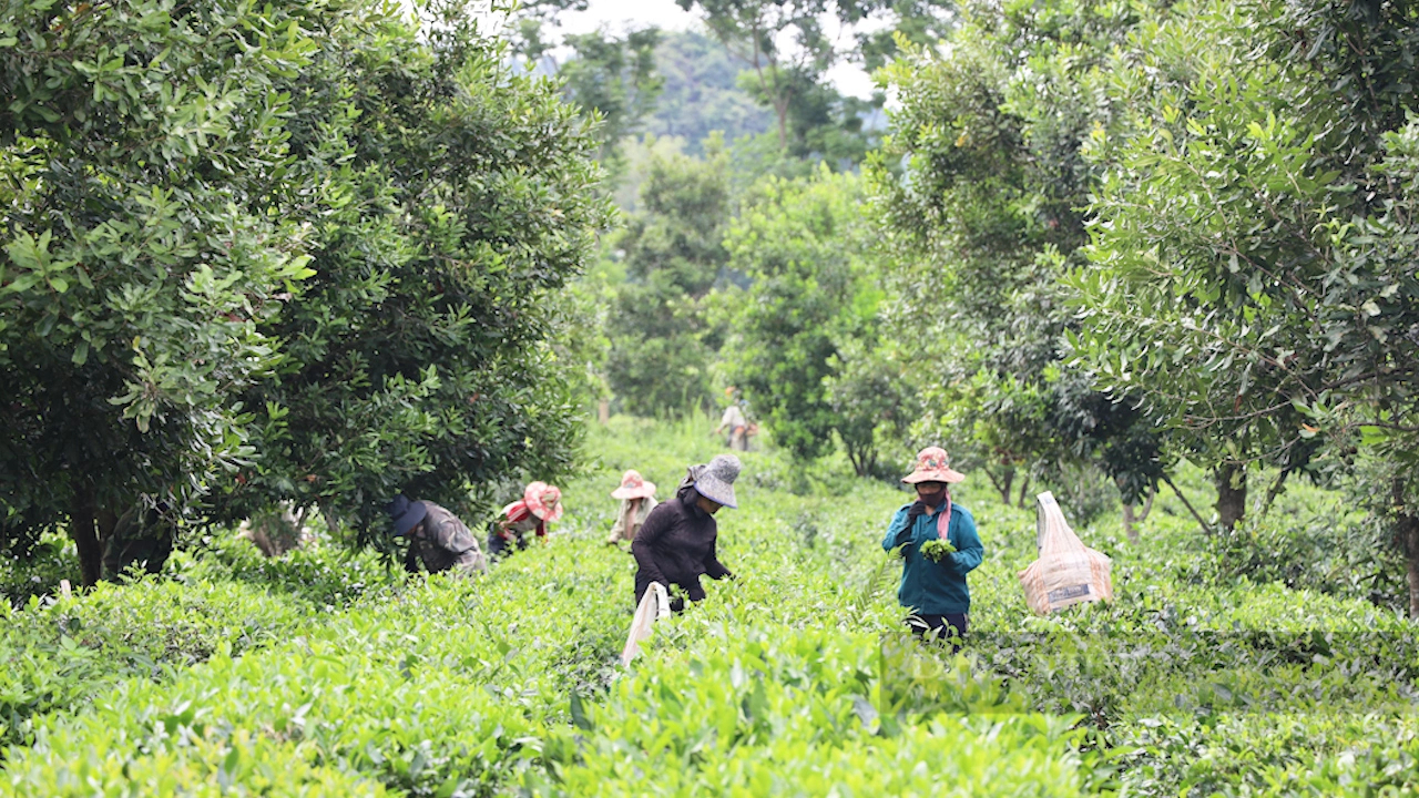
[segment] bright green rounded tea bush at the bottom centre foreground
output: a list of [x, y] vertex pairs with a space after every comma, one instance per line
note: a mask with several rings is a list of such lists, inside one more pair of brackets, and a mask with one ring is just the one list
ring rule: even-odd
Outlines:
[[[914, 643], [688, 618], [668, 652], [548, 747], [558, 795], [1091, 795], [1071, 718], [1023, 714], [988, 676]], [[678, 647], [678, 646], [675, 646]]]

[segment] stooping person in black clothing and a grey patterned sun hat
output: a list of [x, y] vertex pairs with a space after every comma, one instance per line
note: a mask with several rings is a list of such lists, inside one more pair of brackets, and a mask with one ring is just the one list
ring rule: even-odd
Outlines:
[[[675, 497], [657, 505], [630, 544], [636, 557], [636, 603], [651, 582], [670, 588], [678, 585], [690, 601], [701, 601], [705, 591], [700, 576], [732, 578], [734, 574], [715, 555], [718, 525], [714, 514], [721, 507], [735, 507], [734, 480], [739, 459], [721, 454], [708, 464], [691, 466]], [[670, 609], [684, 609], [684, 599], [674, 598]]]

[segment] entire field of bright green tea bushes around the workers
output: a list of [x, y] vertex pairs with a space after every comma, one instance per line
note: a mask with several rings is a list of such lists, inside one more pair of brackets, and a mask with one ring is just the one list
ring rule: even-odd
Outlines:
[[[636, 467], [670, 496], [717, 452], [704, 429], [593, 430], [551, 540], [484, 578], [216, 540], [159, 579], [0, 603], [0, 795], [1419, 791], [1415, 625], [1340, 576], [1244, 572], [1345, 545], [1335, 500], [1301, 487], [1226, 541], [1171, 497], [1141, 544], [1111, 513], [1077, 524], [1114, 558], [1117, 601], [1036, 618], [1016, 581], [1033, 510], [968, 479], [988, 551], [951, 657], [901, 632], [880, 540], [905, 494], [751, 452], [719, 514], [738, 578], [622, 669], [634, 565], [603, 544], [607, 494]], [[1267, 535], [1301, 535], [1297, 559], [1257, 555]], [[64, 555], [6, 568], [18, 595]]]

